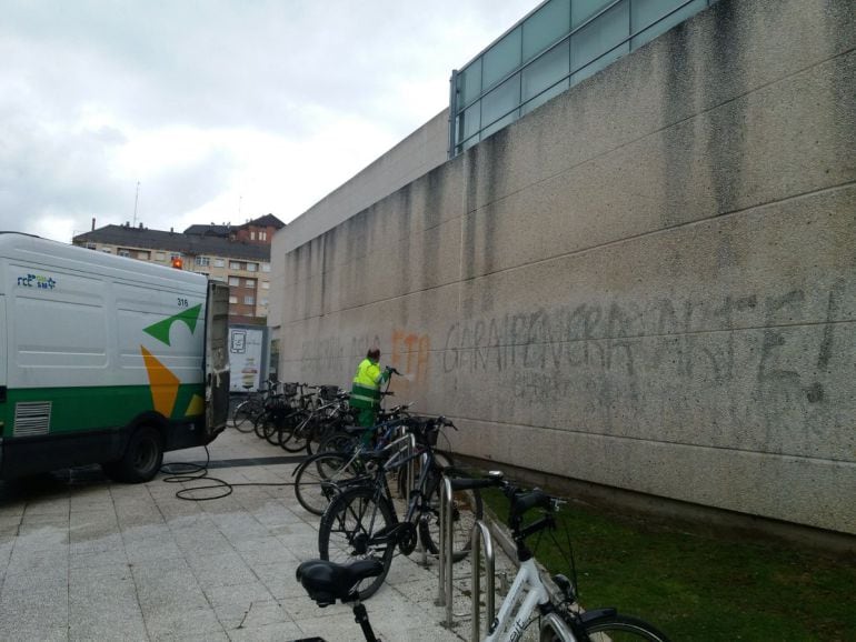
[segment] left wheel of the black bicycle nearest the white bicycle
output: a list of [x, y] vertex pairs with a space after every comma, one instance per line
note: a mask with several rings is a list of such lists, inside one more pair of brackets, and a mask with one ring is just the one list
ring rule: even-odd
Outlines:
[[392, 508], [385, 499], [375, 496], [374, 486], [345, 491], [324, 512], [318, 531], [318, 553], [322, 560], [347, 564], [376, 559], [384, 563], [380, 575], [359, 583], [360, 600], [374, 595], [389, 572], [395, 542], [386, 533], [396, 522]]

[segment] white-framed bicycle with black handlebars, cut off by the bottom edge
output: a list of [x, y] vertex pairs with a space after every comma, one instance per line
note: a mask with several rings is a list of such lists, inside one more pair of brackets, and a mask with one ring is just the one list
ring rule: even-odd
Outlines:
[[[565, 500], [538, 489], [526, 491], [506, 481], [498, 471], [489, 473], [488, 479], [451, 480], [451, 485], [457, 490], [498, 486], [510, 502], [507, 523], [520, 565], [482, 642], [520, 640], [535, 621], [538, 621], [538, 639], [543, 642], [668, 642], [655, 626], [614, 608], [575, 609], [578, 606], [575, 583], [563, 574], [553, 576], [561, 595], [558, 599], [551, 595], [526, 540], [541, 531], [556, 530], [555, 513]], [[540, 510], [538, 519], [525, 522], [524, 515], [532, 510]], [[478, 626], [478, 622], [474, 622], [474, 626]]]

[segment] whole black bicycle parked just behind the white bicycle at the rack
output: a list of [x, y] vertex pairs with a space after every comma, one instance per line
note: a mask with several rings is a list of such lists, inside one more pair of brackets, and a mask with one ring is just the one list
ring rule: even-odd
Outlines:
[[[380, 452], [362, 455], [369, 477], [342, 480], [336, 488], [338, 494], [321, 516], [318, 531], [318, 552], [322, 560], [346, 562], [354, 559], [379, 560], [384, 570], [380, 574], [362, 582], [360, 600], [371, 596], [389, 572], [395, 550], [409, 555], [421, 542], [425, 550], [439, 552], [439, 496], [442, 475], [461, 477], [454, 469], [438, 464], [432, 445], [442, 427], [452, 427], [447, 419], [428, 418], [422, 421], [405, 420], [416, 437], [417, 449], [407, 454], [409, 435], [397, 439]], [[419, 477], [399, 520], [388, 473], [410, 461], [418, 460]], [[469, 551], [470, 530], [482, 512], [481, 495], [477, 490], [464, 490], [455, 496], [454, 560], [464, 559]]]

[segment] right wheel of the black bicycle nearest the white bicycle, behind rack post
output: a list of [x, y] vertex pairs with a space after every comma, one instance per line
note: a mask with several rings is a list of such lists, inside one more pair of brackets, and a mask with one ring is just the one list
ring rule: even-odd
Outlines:
[[[454, 468], [447, 468], [444, 474], [450, 478], [469, 478], [462, 471]], [[442, 477], [439, 472], [432, 473], [426, 483], [427, 486], [427, 512], [419, 520], [419, 541], [425, 549], [434, 554], [440, 554], [440, 493], [442, 492]], [[459, 562], [469, 554], [471, 548], [472, 525], [476, 520], [480, 520], [484, 514], [484, 504], [481, 493], [478, 489], [452, 491], [451, 495], [451, 539], [452, 539], [452, 562]]]

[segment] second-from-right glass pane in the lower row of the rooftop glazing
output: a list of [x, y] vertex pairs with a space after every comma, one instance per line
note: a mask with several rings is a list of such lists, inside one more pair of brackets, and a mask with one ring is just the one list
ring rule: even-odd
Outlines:
[[[598, 16], [577, 31], [570, 39], [570, 66], [574, 71], [581, 70], [594, 61], [596, 70], [603, 69], [616, 58], [629, 51], [626, 41], [630, 31], [630, 3], [625, 0], [606, 13]], [[603, 59], [601, 59], [603, 57]], [[590, 71], [590, 70], [588, 70]], [[585, 73], [584, 77], [590, 76]]]

